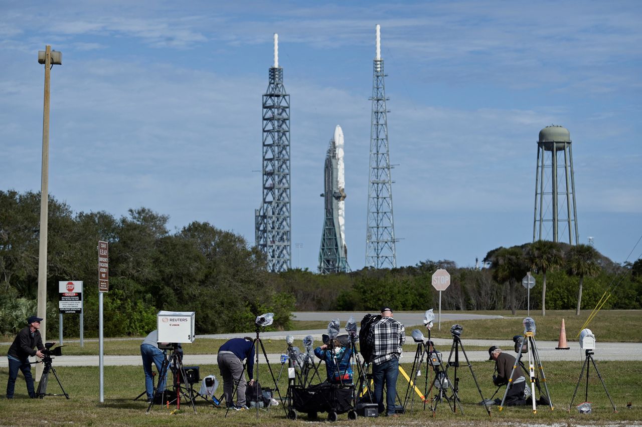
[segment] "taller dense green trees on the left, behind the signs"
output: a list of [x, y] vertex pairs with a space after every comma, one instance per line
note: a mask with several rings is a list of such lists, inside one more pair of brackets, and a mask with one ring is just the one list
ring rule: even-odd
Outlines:
[[[0, 333], [12, 334], [36, 312], [40, 194], [0, 191]], [[109, 243], [106, 336], [144, 335], [159, 310], [196, 312], [196, 333], [248, 331], [256, 315], [275, 314], [286, 328], [295, 300], [278, 292], [265, 258], [243, 237], [207, 222], [170, 233], [168, 216], [147, 208], [116, 218], [73, 213], [49, 197], [48, 331], [58, 330], [58, 281], [84, 282], [84, 330], [98, 332], [98, 240]], [[80, 315], [65, 315], [65, 335], [78, 335]]]

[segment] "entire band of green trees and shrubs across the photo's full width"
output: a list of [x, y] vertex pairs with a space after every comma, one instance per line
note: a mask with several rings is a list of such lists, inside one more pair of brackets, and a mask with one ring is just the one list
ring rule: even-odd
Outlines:
[[[11, 334], [35, 313], [39, 193], [0, 191], [0, 333]], [[539, 241], [492, 249], [480, 269], [449, 260], [347, 274], [291, 269], [266, 272], [265, 257], [241, 236], [207, 222], [169, 232], [168, 217], [147, 208], [116, 218], [74, 213], [49, 197], [48, 330], [57, 331], [58, 281], [83, 280], [85, 335], [98, 330], [98, 240], [109, 242], [110, 291], [105, 335], [143, 335], [158, 310], [196, 312], [196, 333], [248, 331], [254, 317], [275, 313], [274, 328], [290, 327], [293, 310], [426, 310], [437, 307], [431, 276], [451, 274], [444, 310], [526, 308], [521, 280], [532, 272], [531, 308], [593, 308], [615, 283], [604, 308], [642, 308], [642, 261], [619, 265], [591, 246]], [[78, 315], [65, 315], [65, 335], [77, 334]]]

